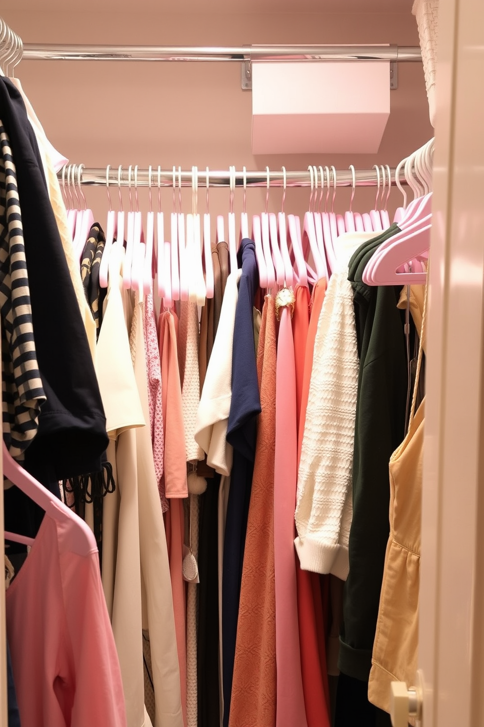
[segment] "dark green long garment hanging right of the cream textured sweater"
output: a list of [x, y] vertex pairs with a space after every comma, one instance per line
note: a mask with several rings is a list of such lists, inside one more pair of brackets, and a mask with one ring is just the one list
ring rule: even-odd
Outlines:
[[353, 452], [353, 521], [348, 543], [350, 571], [343, 594], [338, 665], [343, 674], [368, 682], [390, 531], [390, 455], [405, 435], [408, 384], [404, 314], [399, 287], [362, 282], [372, 241], [350, 260], [356, 324], [361, 342]]

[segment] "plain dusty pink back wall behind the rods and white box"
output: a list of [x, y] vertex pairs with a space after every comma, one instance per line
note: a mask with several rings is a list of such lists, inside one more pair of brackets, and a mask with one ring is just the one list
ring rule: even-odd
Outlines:
[[[271, 12], [268, 0], [252, 3], [251, 12], [220, 12], [220, 4], [208, 0], [208, 12], [200, 12], [200, 2], [189, 2], [182, 14], [155, 9], [145, 1], [136, 4], [144, 10], [129, 11], [121, 1], [115, 10], [102, 0], [78, 3], [66, 10], [66, 2], [46, 0], [42, 8], [35, 0], [17, 0], [2, 9], [2, 15], [25, 42], [100, 44], [371, 44], [418, 45], [417, 24], [411, 15], [411, 1], [401, 0], [393, 7], [402, 12]], [[211, 5], [210, 5], [211, 3]], [[361, 7], [363, 3], [359, 3]], [[242, 3], [236, 6], [242, 7]], [[382, 7], [382, 3], [377, 4]], [[388, 3], [386, 4], [386, 6]], [[354, 6], [354, 3], [353, 3]], [[46, 9], [49, 8], [50, 9]], [[107, 12], [107, 7], [110, 7]], [[179, 6], [180, 7], [180, 6]], [[205, 5], [204, 5], [205, 7]], [[224, 5], [224, 8], [230, 5]], [[262, 7], [264, 12], [254, 12]], [[289, 0], [284, 7], [290, 7]], [[298, 7], [313, 8], [311, 0]], [[335, 3], [332, 3], [332, 9]], [[341, 6], [340, 6], [341, 7]], [[343, 2], [343, 7], [348, 7]], [[371, 7], [371, 4], [365, 4]], [[104, 10], [103, 10], [104, 8]], [[267, 9], [268, 8], [268, 9]], [[197, 10], [198, 9], [198, 10]], [[403, 12], [404, 11], [404, 12]], [[394, 166], [411, 150], [432, 136], [428, 121], [422, 65], [401, 64], [398, 91], [391, 92], [391, 113], [376, 155], [290, 155], [253, 156], [251, 153], [251, 95], [240, 89], [238, 63], [62, 63], [23, 61], [17, 76], [57, 148], [71, 161], [86, 166], [139, 164], [171, 168], [173, 164], [190, 169], [306, 169], [308, 164], [334, 164], [338, 169]], [[189, 192], [184, 191], [184, 209], [191, 208]], [[104, 190], [89, 189], [88, 201], [103, 222], [107, 198]], [[289, 190], [286, 210], [302, 214], [308, 204], [308, 190]], [[338, 190], [336, 206], [344, 211], [349, 190]], [[200, 206], [205, 209], [205, 190]], [[261, 212], [264, 190], [249, 190], [247, 211]], [[113, 201], [117, 195], [113, 196]], [[127, 204], [127, 193], [124, 194]], [[163, 209], [171, 210], [171, 192], [162, 193]], [[269, 206], [278, 209], [281, 192], [271, 192]], [[399, 204], [394, 190], [390, 208]], [[356, 191], [354, 208], [373, 206], [374, 190]], [[141, 190], [140, 204], [147, 206], [147, 190]], [[225, 213], [228, 190], [210, 191], [210, 211]], [[242, 193], [236, 194], [236, 212]]]

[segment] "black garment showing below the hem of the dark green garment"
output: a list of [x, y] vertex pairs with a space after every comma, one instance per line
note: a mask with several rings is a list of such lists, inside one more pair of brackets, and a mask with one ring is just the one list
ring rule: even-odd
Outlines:
[[392, 727], [392, 720], [368, 701], [368, 683], [345, 674], [337, 678], [335, 727]]

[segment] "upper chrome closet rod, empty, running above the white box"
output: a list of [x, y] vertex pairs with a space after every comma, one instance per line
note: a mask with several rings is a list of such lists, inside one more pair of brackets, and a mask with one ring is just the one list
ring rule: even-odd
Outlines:
[[422, 60], [419, 46], [396, 45], [254, 45], [254, 46], [115, 46], [26, 43], [23, 59], [30, 60]]

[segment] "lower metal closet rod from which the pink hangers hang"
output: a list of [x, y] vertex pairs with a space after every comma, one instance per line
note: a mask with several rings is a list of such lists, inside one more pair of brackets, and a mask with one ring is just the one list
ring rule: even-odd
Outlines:
[[[68, 169], [68, 166], [67, 166]], [[71, 184], [78, 184], [78, 167], [73, 172], [71, 177]], [[316, 167], [319, 170], [319, 167]], [[385, 167], [386, 169], [386, 167]], [[380, 169], [379, 169], [380, 171]], [[330, 186], [334, 188], [335, 182], [337, 187], [351, 187], [353, 185], [353, 172], [350, 169], [337, 169], [335, 177], [332, 172], [330, 174]], [[89, 186], [105, 186], [106, 185], [106, 168], [92, 168], [83, 167], [80, 170], [82, 185]], [[64, 173], [64, 183], [67, 182], [67, 177], [70, 175]], [[57, 172], [57, 177], [62, 180], [62, 169]], [[157, 166], [152, 167], [151, 175], [152, 187], [156, 188], [158, 185], [158, 169]], [[182, 187], [192, 186], [192, 171], [183, 170], [178, 171], [176, 167], [175, 172], [175, 185], [179, 186], [179, 177], [181, 180]], [[311, 185], [311, 175], [306, 169], [304, 172], [286, 172], [286, 186], [287, 187], [309, 187]], [[390, 169], [390, 177], [392, 184], [395, 184], [395, 169]], [[383, 185], [383, 174], [380, 174], [381, 185]], [[385, 184], [388, 185], [387, 174], [385, 174]], [[205, 169], [201, 167], [197, 170], [197, 185], [199, 187], [205, 187], [207, 184], [207, 173]], [[376, 187], [378, 184], [378, 175], [375, 169], [356, 169], [355, 171], [355, 186], [356, 187]], [[266, 187], [267, 185], [267, 172], [235, 172], [235, 186], [243, 187], [244, 182], [247, 187]], [[122, 187], [129, 186], [129, 174], [128, 167], [123, 166], [121, 170], [121, 176], [118, 177], [118, 167], [112, 166], [109, 172], [109, 184], [113, 187], [118, 186], [118, 183]], [[221, 170], [209, 170], [208, 172], [208, 184], [210, 187], [229, 187], [230, 186], [230, 172]], [[284, 173], [283, 172], [269, 172], [269, 184], [271, 187], [282, 187], [284, 185]], [[321, 189], [321, 178], [318, 174], [317, 184]], [[401, 180], [401, 184], [406, 184], [406, 180]], [[134, 187], [134, 166], [131, 166], [131, 187]], [[148, 169], [137, 169], [136, 172], [136, 186], [147, 187], [149, 186], [149, 170]], [[160, 169], [160, 186], [172, 187], [173, 186], [173, 169]], [[325, 182], [327, 188], [327, 182]]]

